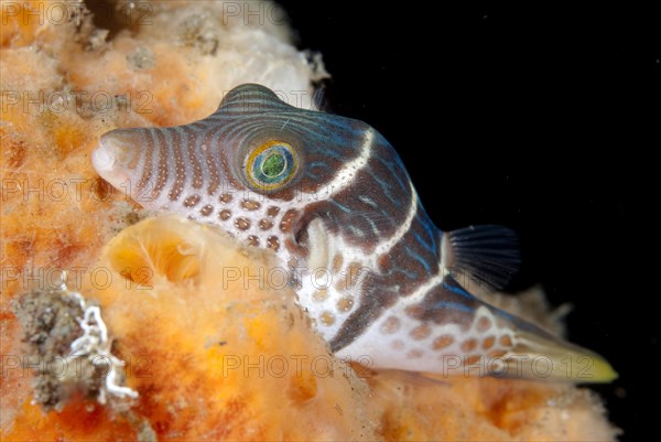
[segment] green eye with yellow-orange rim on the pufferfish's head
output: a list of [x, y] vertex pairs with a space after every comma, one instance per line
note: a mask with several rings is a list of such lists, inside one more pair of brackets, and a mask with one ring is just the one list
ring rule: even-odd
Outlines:
[[250, 184], [272, 191], [286, 184], [296, 172], [296, 153], [284, 141], [269, 141], [254, 149], [246, 160]]

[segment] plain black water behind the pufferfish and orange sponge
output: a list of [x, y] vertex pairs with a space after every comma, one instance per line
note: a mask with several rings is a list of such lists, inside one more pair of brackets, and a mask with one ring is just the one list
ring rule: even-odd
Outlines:
[[333, 75], [326, 110], [386, 136], [440, 228], [519, 233], [524, 265], [510, 289], [541, 283], [554, 305], [574, 305], [570, 338], [620, 375], [594, 390], [622, 440], [649, 438], [661, 323], [659, 12], [280, 3], [299, 46], [321, 52]]

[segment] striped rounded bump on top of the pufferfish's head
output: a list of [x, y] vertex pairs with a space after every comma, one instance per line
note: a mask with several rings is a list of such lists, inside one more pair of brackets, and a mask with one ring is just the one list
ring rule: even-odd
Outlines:
[[253, 114], [282, 111], [291, 106], [266, 86], [247, 83], [235, 87], [225, 95], [217, 112]]

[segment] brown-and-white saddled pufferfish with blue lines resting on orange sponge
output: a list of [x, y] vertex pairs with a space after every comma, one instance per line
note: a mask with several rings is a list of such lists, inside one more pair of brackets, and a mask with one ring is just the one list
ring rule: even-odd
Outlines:
[[506, 281], [516, 235], [436, 228], [395, 150], [362, 121], [246, 84], [199, 121], [105, 133], [93, 163], [145, 208], [272, 250], [340, 358], [441, 375], [617, 376], [599, 355], [469, 293], [464, 277]]

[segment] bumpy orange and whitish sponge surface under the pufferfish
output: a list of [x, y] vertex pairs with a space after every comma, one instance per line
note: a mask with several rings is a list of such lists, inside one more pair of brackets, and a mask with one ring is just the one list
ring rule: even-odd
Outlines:
[[[55, 3], [69, 4], [71, 20]], [[113, 35], [74, 3], [2, 2], [3, 441], [614, 440], [598, 401], [573, 386], [349, 366], [277, 274], [260, 285], [228, 273], [259, 276], [273, 266], [268, 255], [180, 218], [136, 224], [147, 214], [91, 168], [105, 131], [193, 121], [246, 82], [300, 98], [323, 73], [283, 22], [237, 20], [220, 2], [110, 9], [124, 21]], [[130, 411], [82, 395], [62, 410], [32, 403], [12, 300], [58, 288], [62, 269], [101, 306], [139, 394]]]

